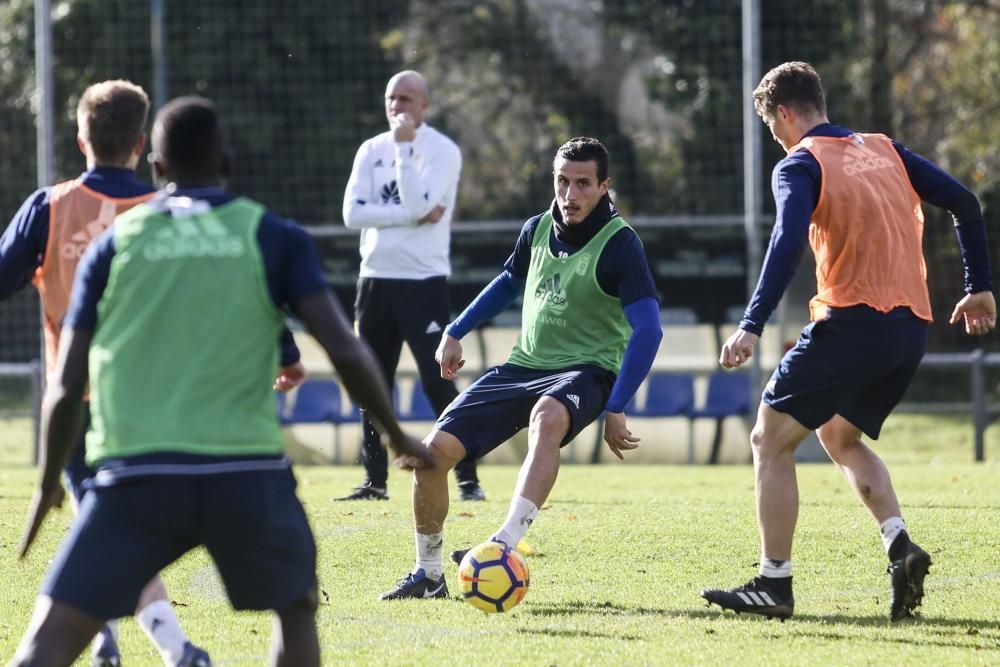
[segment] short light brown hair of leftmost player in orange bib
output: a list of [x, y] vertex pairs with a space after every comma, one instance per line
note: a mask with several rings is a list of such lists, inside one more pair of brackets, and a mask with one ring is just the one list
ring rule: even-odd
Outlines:
[[102, 81], [83, 91], [76, 106], [80, 136], [102, 166], [124, 166], [149, 118], [149, 96], [131, 81]]

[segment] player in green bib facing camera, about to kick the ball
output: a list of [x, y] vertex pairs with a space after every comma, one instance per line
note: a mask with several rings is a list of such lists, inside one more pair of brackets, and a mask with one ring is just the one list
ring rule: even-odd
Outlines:
[[[456, 462], [528, 428], [507, 519], [491, 537], [516, 547], [555, 484], [560, 448], [602, 411], [604, 440], [615, 456], [639, 446], [623, 410], [663, 336], [645, 251], [608, 196], [608, 152], [599, 141], [563, 144], [552, 173], [551, 208], [525, 223], [503, 272], [441, 337], [441, 375], [454, 379], [465, 363], [461, 338], [523, 294], [521, 333], [507, 363], [462, 392], [424, 439], [438, 465], [413, 478], [417, 562], [384, 600], [447, 596], [445, 472]], [[451, 558], [458, 562], [464, 553]]]

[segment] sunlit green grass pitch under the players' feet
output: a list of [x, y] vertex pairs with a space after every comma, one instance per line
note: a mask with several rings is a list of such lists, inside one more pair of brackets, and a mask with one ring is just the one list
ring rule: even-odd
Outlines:
[[[453, 599], [377, 600], [412, 565], [409, 476], [393, 473], [388, 502], [345, 504], [330, 499], [357, 481], [356, 469], [300, 468], [319, 546], [323, 663], [1000, 664], [1000, 464], [989, 442], [993, 458], [968, 463], [968, 438], [957, 444], [966, 424], [894, 418], [880, 442], [905, 518], [935, 560], [921, 617], [897, 624], [887, 619], [876, 527], [830, 465], [799, 466], [796, 614], [786, 623], [707, 609], [698, 595], [755, 573], [749, 466], [564, 466], [528, 534], [536, 552], [528, 558], [531, 589], [508, 615], [486, 615], [454, 597], [450, 563]], [[446, 551], [499, 526], [515, 476], [514, 467], [482, 468], [490, 500], [453, 503]], [[69, 521], [67, 511], [55, 514], [29, 558], [15, 559], [33, 481], [27, 467], [0, 473], [3, 659]], [[203, 552], [165, 578], [185, 629], [217, 665], [264, 663], [269, 617], [231, 612]], [[122, 623], [122, 644], [130, 667], [160, 664], [131, 620]]]

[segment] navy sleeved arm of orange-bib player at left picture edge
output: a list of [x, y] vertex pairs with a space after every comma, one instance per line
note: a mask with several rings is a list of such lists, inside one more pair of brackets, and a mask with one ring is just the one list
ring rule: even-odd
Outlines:
[[0, 301], [27, 286], [45, 259], [50, 193], [42, 188], [25, 199], [0, 236]]

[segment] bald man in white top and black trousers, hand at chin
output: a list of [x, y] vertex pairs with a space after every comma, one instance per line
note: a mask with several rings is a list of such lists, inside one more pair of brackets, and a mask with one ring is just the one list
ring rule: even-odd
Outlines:
[[[451, 318], [448, 253], [462, 154], [455, 142], [424, 122], [429, 107], [427, 81], [419, 72], [407, 70], [389, 79], [389, 130], [358, 149], [343, 213], [347, 227], [361, 230], [354, 304], [358, 334], [375, 352], [389, 386], [405, 341], [427, 398], [441, 414], [458, 395], [455, 383], [441, 377], [434, 350]], [[367, 416], [362, 430], [365, 481], [338, 500], [389, 497], [385, 448]], [[462, 500], [486, 499], [475, 459], [459, 462], [455, 477]]]

